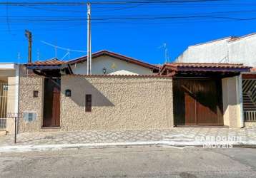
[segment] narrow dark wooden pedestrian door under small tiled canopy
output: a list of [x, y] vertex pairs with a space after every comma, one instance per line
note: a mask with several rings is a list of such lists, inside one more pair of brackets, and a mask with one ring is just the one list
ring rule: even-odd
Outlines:
[[58, 127], [60, 124], [60, 79], [44, 79], [43, 127]]

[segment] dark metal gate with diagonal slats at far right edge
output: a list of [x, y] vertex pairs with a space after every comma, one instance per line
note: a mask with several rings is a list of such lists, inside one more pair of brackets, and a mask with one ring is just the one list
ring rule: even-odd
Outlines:
[[245, 122], [256, 122], [256, 79], [242, 80], [242, 102]]

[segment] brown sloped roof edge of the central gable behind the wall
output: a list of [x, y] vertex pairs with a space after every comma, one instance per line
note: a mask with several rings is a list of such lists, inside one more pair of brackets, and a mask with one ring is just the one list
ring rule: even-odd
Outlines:
[[[92, 53], [92, 58], [97, 58], [99, 56], [109, 56], [109, 57], [112, 57], [112, 58], [117, 58], [117, 59], [122, 60], [122, 61], [126, 61], [128, 63], [133, 63], [133, 64], [136, 64], [138, 66], [142, 66], [144, 68], [157, 69], [158, 70], [157, 66], [154, 66], [154, 65], [149, 64], [149, 63], [145, 63], [143, 61], [139, 61], [139, 60], [134, 59], [134, 58], [130, 58], [128, 56], [123, 56], [119, 53], [114, 53], [114, 52], [111, 52], [111, 51], [103, 50], [103, 51], [98, 51], [96, 53]], [[84, 61], [87, 61], [87, 56], [82, 56], [80, 58], [69, 61], [69, 64], [73, 65], [75, 63], [82, 63]]]

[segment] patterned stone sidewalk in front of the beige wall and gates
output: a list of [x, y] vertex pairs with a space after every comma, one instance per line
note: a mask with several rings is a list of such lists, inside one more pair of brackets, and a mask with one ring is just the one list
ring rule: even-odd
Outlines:
[[[189, 142], [206, 137], [232, 137], [235, 141], [256, 145], [256, 127], [229, 129], [223, 127], [174, 127], [172, 130], [127, 130], [89, 132], [32, 132], [17, 135], [16, 145], [63, 145], [120, 142]], [[0, 147], [14, 144], [14, 135], [0, 137]]]

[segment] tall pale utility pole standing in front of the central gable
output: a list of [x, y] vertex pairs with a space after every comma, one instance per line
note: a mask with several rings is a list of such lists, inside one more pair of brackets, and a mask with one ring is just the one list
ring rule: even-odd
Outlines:
[[87, 4], [87, 75], [92, 74], [91, 4]]

